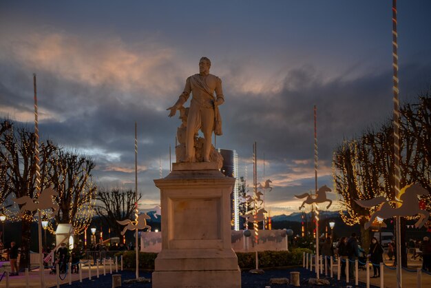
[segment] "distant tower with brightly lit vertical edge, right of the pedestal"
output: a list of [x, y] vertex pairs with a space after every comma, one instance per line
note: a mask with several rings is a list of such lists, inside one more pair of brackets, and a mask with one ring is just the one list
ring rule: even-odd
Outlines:
[[223, 156], [223, 166], [220, 171], [228, 177], [235, 178], [235, 185], [231, 194], [231, 220], [233, 221], [233, 229], [240, 229], [240, 199], [238, 195], [238, 154], [235, 150], [218, 149], [218, 152]]

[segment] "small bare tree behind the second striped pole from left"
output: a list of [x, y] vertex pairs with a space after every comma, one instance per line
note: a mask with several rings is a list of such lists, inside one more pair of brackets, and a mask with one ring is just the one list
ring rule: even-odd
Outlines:
[[[142, 195], [138, 194], [138, 201], [141, 197]], [[114, 188], [110, 192], [99, 189], [95, 207], [96, 214], [111, 227], [116, 236], [120, 237], [120, 232], [124, 227], [119, 225], [117, 220], [134, 220], [135, 200], [135, 192], [132, 189]]]

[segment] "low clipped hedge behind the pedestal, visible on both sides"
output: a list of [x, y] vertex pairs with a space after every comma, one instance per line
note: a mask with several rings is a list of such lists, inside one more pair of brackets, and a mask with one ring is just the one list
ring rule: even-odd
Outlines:
[[[272, 268], [272, 267], [286, 267], [286, 266], [297, 266], [302, 265], [302, 254], [303, 252], [311, 253], [310, 249], [297, 248], [293, 251], [262, 251], [259, 254], [259, 267], [260, 268]], [[123, 254], [123, 267], [135, 268], [136, 254], [135, 251], [125, 251], [124, 253], [118, 253], [116, 256]], [[237, 253], [238, 265], [240, 269], [251, 269], [255, 267], [255, 252], [249, 253]], [[157, 253], [139, 253], [139, 268], [154, 270], [154, 259], [156, 259]]]

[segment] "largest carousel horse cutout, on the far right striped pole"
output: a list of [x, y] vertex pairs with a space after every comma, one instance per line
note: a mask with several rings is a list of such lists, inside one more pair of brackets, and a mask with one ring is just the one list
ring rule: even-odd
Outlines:
[[[355, 202], [365, 208], [370, 208], [373, 206], [380, 205], [376, 212], [371, 215], [368, 223], [365, 223], [365, 229], [370, 227], [371, 223], [375, 220], [375, 218], [380, 217], [383, 219], [392, 218], [394, 216], [414, 216], [416, 214], [420, 214], [421, 218], [417, 220], [417, 223], [414, 224], [414, 227], [422, 227], [423, 224], [430, 217], [430, 212], [426, 210], [419, 209], [419, 199], [418, 195], [428, 195], [430, 194], [427, 189], [423, 188], [419, 183], [406, 185], [401, 189], [401, 196], [399, 200], [386, 200], [385, 197], [379, 196], [370, 200], [358, 200], [355, 199]], [[390, 207], [390, 202], [401, 203], [401, 206], [397, 208]]]

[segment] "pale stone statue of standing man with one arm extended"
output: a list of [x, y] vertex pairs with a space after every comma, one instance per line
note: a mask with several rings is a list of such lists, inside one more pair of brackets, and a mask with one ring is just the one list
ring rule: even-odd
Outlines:
[[189, 99], [190, 92], [193, 94], [187, 118], [186, 162], [196, 162], [193, 144], [195, 134], [199, 130], [204, 134], [203, 158], [205, 162], [210, 161], [209, 153], [213, 131], [215, 135], [222, 134], [222, 122], [218, 111], [218, 105], [224, 102], [222, 81], [218, 76], [209, 74], [210, 67], [211, 61], [207, 57], [202, 57], [199, 61], [199, 74], [187, 78], [184, 91], [178, 101], [174, 106], [167, 108], [167, 110], [171, 110], [169, 117], [174, 116], [176, 110]]

